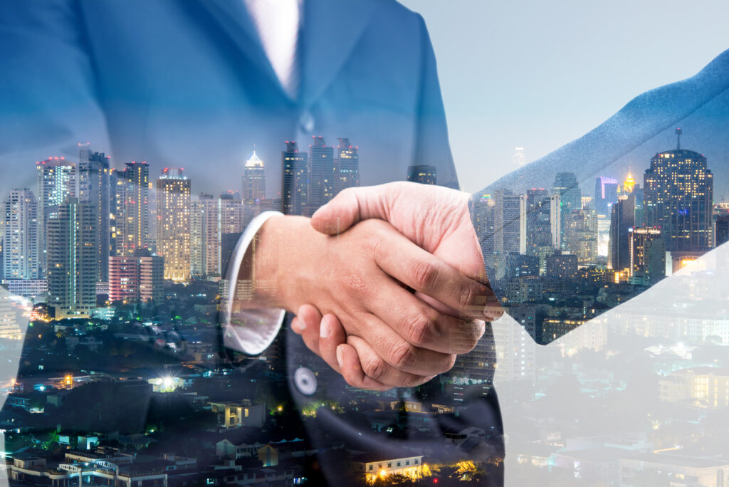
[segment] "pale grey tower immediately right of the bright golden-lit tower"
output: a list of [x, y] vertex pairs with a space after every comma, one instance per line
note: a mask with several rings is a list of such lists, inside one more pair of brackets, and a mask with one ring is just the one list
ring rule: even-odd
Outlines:
[[192, 276], [219, 275], [218, 201], [213, 195], [192, 198], [190, 209], [190, 271]]

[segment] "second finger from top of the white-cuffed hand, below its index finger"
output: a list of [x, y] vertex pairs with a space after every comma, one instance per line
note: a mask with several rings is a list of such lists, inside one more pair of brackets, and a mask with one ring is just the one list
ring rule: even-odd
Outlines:
[[[376, 289], [378, 292], [370, 301], [370, 311], [402, 338], [420, 348], [443, 354], [467, 354], [486, 331], [482, 321], [458, 319], [440, 313], [400, 286], [378, 286]], [[359, 335], [366, 336], [364, 332]]]

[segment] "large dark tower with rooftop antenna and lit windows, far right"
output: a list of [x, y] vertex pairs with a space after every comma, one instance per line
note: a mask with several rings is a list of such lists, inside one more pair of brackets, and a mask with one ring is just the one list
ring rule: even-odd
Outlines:
[[660, 227], [669, 252], [709, 249], [713, 193], [714, 175], [706, 168], [706, 157], [679, 146], [660, 152], [644, 175], [644, 224]]

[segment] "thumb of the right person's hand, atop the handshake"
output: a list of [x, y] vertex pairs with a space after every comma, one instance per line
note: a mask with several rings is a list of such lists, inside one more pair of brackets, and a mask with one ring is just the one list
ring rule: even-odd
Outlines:
[[386, 219], [378, 194], [375, 187], [346, 188], [314, 212], [311, 226], [319, 233], [337, 235], [363, 219]]

